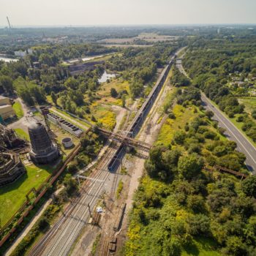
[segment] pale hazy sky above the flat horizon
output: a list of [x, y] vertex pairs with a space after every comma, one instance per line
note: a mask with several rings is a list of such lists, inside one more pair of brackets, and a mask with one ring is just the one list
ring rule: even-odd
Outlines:
[[0, 26], [256, 23], [256, 0], [0, 0]]

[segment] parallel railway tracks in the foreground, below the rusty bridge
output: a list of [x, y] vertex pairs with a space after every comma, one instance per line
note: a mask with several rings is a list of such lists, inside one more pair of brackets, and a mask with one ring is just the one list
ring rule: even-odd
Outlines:
[[[105, 166], [108, 164], [110, 157], [115, 153], [115, 151], [115, 148], [109, 148], [105, 153], [105, 156], [99, 162], [94, 173], [91, 175], [91, 178], [101, 179], [103, 181], [108, 179], [110, 173]], [[78, 197], [75, 202], [69, 205], [65, 212], [65, 216], [61, 217], [61, 219], [56, 222], [44, 238], [42, 238], [42, 240], [39, 241], [33, 249], [31, 249], [29, 255], [67, 255], [70, 249], [70, 244], [75, 241], [75, 238], [79, 235], [80, 229], [83, 227], [84, 223], [89, 221], [89, 211], [85, 211], [88, 210], [88, 204], [90, 208], [94, 208], [97, 203], [97, 197], [99, 197], [103, 191], [103, 186], [104, 182], [99, 183], [89, 180], [84, 182], [81, 189], [81, 193], [83, 193], [83, 195]], [[64, 228], [61, 229], [61, 226], [64, 226]], [[61, 236], [54, 239], [54, 244], [52, 244], [52, 239], [60, 230], [62, 230]], [[50, 250], [46, 250], [47, 247], [50, 247]]]

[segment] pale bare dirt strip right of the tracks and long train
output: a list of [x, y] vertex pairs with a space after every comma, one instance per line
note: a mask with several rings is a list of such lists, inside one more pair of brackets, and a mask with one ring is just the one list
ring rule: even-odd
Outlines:
[[[159, 130], [165, 121], [165, 115], [163, 116], [162, 121], [159, 121], [159, 118], [163, 115], [161, 111], [162, 103], [164, 102], [167, 92], [170, 91], [170, 86], [168, 86], [170, 85], [170, 79], [169, 79], [170, 74], [171, 72], [169, 72], [165, 85], [163, 86], [162, 90], [159, 93], [159, 96], [154, 102], [153, 108], [151, 108], [151, 111], [148, 113], [148, 117], [146, 118], [146, 121], [141, 129], [141, 132], [137, 136], [138, 140], [142, 140], [144, 142], [152, 144], [157, 139]], [[120, 118], [120, 120], [121, 119], [122, 118]], [[102, 227], [103, 228], [102, 232], [105, 232], [107, 236], [110, 236], [111, 231], [107, 233], [107, 230], [113, 230], [113, 223], [115, 222], [115, 219], [118, 216], [118, 212], [119, 212], [118, 209], [121, 206], [121, 203], [126, 202], [127, 208], [124, 212], [124, 219], [122, 222], [121, 230], [119, 230], [119, 232], [115, 234], [115, 236], [118, 237], [118, 245], [117, 245], [118, 248], [121, 248], [121, 245], [125, 240], [127, 227], [128, 227], [128, 221], [127, 221], [128, 212], [132, 208], [133, 195], [135, 190], [138, 189], [138, 186], [140, 183], [140, 177], [143, 175], [145, 159], [142, 159], [139, 157], [130, 157], [130, 155], [128, 155], [127, 157], [125, 157], [123, 162], [124, 162], [124, 167], [127, 168], [127, 174], [128, 174], [124, 176], [121, 175], [121, 177], [119, 175], [119, 178], [121, 178], [121, 180], [124, 182], [124, 189], [123, 189], [124, 192], [121, 193], [121, 198], [116, 200], [116, 204], [114, 203], [114, 207], [111, 208], [111, 211], [110, 211], [111, 217], [108, 219], [105, 219], [106, 223]], [[102, 225], [102, 223], [100, 225]], [[91, 247], [91, 244], [89, 243], [89, 241], [86, 240], [86, 236], [88, 236], [88, 233], [90, 233], [90, 230], [88, 227], [86, 227], [86, 233], [84, 233], [83, 236], [80, 238], [80, 240], [78, 241], [78, 244], [76, 244], [75, 249], [72, 251], [71, 255], [88, 255], [88, 252], [89, 252], [88, 248]], [[108, 238], [106, 239], [107, 240], [104, 240], [104, 241], [108, 242]]]

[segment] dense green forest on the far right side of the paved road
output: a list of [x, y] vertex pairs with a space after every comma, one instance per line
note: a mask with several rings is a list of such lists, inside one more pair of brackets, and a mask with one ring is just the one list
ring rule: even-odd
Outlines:
[[[253, 80], [256, 74], [255, 36], [228, 37], [219, 39], [200, 38], [189, 46], [184, 58], [184, 67], [193, 84], [219, 105], [230, 118], [236, 118], [249, 138], [256, 142], [256, 123], [253, 116], [244, 112], [238, 102], [237, 83], [229, 83], [230, 77], [244, 83]], [[252, 83], [250, 86], [254, 86]], [[248, 91], [248, 88], [246, 89]]]

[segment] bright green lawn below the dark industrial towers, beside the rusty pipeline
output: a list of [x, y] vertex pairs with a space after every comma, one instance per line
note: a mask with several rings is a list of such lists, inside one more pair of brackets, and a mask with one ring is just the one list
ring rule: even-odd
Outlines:
[[27, 172], [17, 181], [0, 188], [0, 219], [3, 226], [15, 211], [26, 201], [26, 194], [30, 189], [36, 189], [50, 175], [49, 166], [37, 167], [29, 165], [26, 167]]

